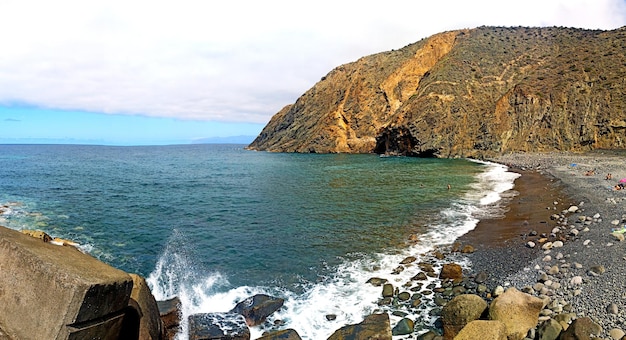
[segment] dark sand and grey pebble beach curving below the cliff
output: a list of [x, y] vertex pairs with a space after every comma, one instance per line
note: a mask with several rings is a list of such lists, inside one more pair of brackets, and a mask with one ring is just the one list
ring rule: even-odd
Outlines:
[[[612, 188], [626, 178], [626, 150], [516, 153], [490, 161], [522, 176], [503, 218], [481, 220], [459, 238], [476, 248], [467, 254], [470, 275], [486, 271], [490, 289], [500, 285], [530, 292], [548, 275], [558, 283], [543, 291], [550, 300], [569, 305], [577, 317], [590, 317], [604, 338], [626, 330], [626, 288], [620, 288], [626, 283], [626, 242], [612, 235], [613, 228], [626, 225], [626, 190]], [[613, 177], [605, 180], [608, 173]], [[578, 210], [568, 211], [571, 206]], [[537, 236], [530, 236], [532, 230]], [[541, 234], [547, 236], [542, 243]], [[563, 246], [542, 249], [556, 240]], [[582, 282], [572, 283], [575, 277]]]

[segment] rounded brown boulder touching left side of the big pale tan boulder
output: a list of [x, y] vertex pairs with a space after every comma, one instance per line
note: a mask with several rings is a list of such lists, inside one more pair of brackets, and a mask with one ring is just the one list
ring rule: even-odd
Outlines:
[[487, 309], [487, 302], [474, 294], [456, 296], [441, 311], [443, 334], [453, 339], [468, 323], [477, 320]]

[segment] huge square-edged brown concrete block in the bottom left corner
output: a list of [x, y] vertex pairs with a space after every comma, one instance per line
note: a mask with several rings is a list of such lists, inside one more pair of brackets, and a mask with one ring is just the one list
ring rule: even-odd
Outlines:
[[0, 263], [0, 325], [10, 338], [119, 337], [133, 287], [127, 273], [4, 227]]

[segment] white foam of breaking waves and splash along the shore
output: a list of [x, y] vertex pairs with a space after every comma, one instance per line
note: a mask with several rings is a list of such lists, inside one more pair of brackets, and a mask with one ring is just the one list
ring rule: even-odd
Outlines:
[[[426, 233], [419, 235], [419, 242], [392, 254], [363, 256], [359, 260], [345, 261], [334, 269], [328, 279], [311, 284], [302, 293], [295, 293], [275, 287], [236, 287], [229, 286], [226, 277], [219, 273], [197, 273], [185, 256], [177, 254], [175, 247], [168, 247], [159, 259], [156, 269], [148, 277], [153, 294], [159, 300], [178, 296], [182, 301], [182, 329], [179, 340], [188, 334], [187, 318], [194, 313], [227, 312], [235, 304], [254, 294], [265, 293], [285, 298], [284, 307], [270, 317], [270, 322], [281, 320], [281, 328], [294, 328], [303, 339], [326, 339], [340, 327], [358, 323], [363, 317], [387, 307], [378, 306], [381, 288], [367, 284], [372, 277], [386, 278], [396, 287], [409, 282], [416, 273], [413, 265], [392, 275], [394, 268], [407, 256], [415, 256], [417, 262], [424, 254], [441, 245], [453, 243], [458, 237], [475, 228], [479, 218], [490, 217], [497, 212], [497, 202], [503, 193], [513, 188], [518, 174], [507, 171], [505, 166], [481, 162], [486, 166], [477, 176], [474, 190], [441, 212], [441, 218], [428, 226]], [[493, 209], [491, 209], [493, 208]], [[491, 209], [491, 210], [490, 210]], [[495, 210], [494, 210], [495, 209]], [[461, 263], [462, 265], [466, 265]], [[441, 264], [436, 264], [438, 270]], [[436, 279], [428, 278], [427, 287]], [[425, 289], [425, 288], [423, 288]], [[423, 305], [407, 317], [434, 322], [429, 315], [434, 308], [432, 297], [424, 296]], [[327, 315], [334, 315], [333, 321]], [[391, 316], [392, 326], [400, 318]], [[252, 338], [265, 331], [254, 327]]]

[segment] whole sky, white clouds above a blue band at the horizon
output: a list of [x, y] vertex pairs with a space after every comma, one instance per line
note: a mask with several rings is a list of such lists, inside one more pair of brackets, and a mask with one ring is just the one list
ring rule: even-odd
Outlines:
[[482, 25], [616, 29], [626, 0], [0, 0], [0, 144], [251, 140], [341, 64]]

